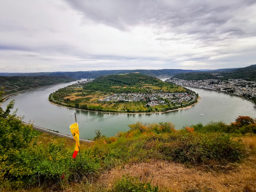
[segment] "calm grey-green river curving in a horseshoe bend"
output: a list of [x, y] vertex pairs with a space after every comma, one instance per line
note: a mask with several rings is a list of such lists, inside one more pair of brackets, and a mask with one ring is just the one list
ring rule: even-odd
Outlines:
[[[50, 104], [48, 96], [59, 88], [63, 88], [72, 83], [64, 83], [40, 88], [18, 94], [7, 99], [2, 108], [14, 99], [15, 108], [18, 108], [17, 115], [24, 115], [25, 122], [34, 122], [34, 125], [59, 131], [64, 134], [71, 134], [69, 125], [75, 122], [75, 117], [70, 117], [73, 112], [77, 113], [77, 123], [79, 124], [80, 138], [93, 139], [95, 130], [100, 129], [106, 136], [114, 136], [118, 131], [127, 131], [128, 125], [141, 121], [143, 123], [159, 123], [171, 121], [176, 125], [176, 129], [184, 125], [196, 123], [206, 124], [209, 121], [234, 122], [238, 115], [256, 117], [255, 105], [242, 98], [218, 93], [210, 90], [190, 88], [202, 98], [199, 103], [192, 108], [177, 110], [167, 113], [155, 114], [114, 114], [86, 112], [64, 108]], [[204, 114], [200, 116], [200, 114]]]

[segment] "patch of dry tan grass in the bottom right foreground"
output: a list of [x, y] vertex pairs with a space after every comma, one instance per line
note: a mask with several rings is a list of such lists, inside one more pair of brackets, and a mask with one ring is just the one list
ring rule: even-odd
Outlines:
[[170, 191], [187, 191], [199, 189], [201, 191], [244, 191], [245, 187], [256, 190], [256, 164], [246, 161], [240, 165], [230, 165], [228, 172], [205, 170], [203, 167], [186, 168], [182, 164], [168, 162], [150, 162], [125, 165], [103, 174], [99, 181], [111, 188], [116, 179], [129, 174], [137, 176], [143, 182], [150, 180], [153, 175], [153, 185], [160, 189], [165, 187]]

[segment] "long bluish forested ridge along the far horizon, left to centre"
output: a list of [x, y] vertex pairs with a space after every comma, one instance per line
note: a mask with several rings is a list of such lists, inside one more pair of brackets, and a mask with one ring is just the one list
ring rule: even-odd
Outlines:
[[188, 72], [202, 72], [196, 70], [183, 70], [183, 69], [159, 69], [159, 70], [101, 70], [101, 71], [76, 71], [76, 72], [40, 72], [40, 73], [0, 73], [1, 76], [69, 76], [73, 78], [90, 78], [96, 79], [102, 75], [115, 75], [121, 73], [135, 73], [139, 72], [143, 75], [148, 75], [151, 77], [156, 77], [159, 75], [173, 76], [178, 73], [188, 73]]

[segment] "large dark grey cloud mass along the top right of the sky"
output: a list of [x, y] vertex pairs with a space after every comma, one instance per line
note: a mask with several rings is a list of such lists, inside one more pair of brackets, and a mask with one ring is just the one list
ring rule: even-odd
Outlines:
[[[216, 36], [226, 33], [222, 29], [222, 25], [232, 20], [237, 10], [256, 3], [255, 0], [223, 2], [184, 0], [66, 1], [81, 11], [86, 19], [90, 18], [95, 22], [101, 22], [120, 30], [129, 30], [129, 27], [137, 24], [153, 24], [178, 34], [211, 34]], [[245, 23], [247, 20], [243, 22]], [[235, 30], [232, 34], [241, 35], [245, 32]], [[195, 39], [201, 38], [195, 37]]]

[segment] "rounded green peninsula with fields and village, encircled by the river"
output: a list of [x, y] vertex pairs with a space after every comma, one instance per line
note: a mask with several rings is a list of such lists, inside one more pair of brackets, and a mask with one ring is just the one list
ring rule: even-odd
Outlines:
[[61, 88], [49, 101], [82, 110], [114, 113], [165, 112], [195, 104], [198, 95], [137, 73], [105, 75]]

